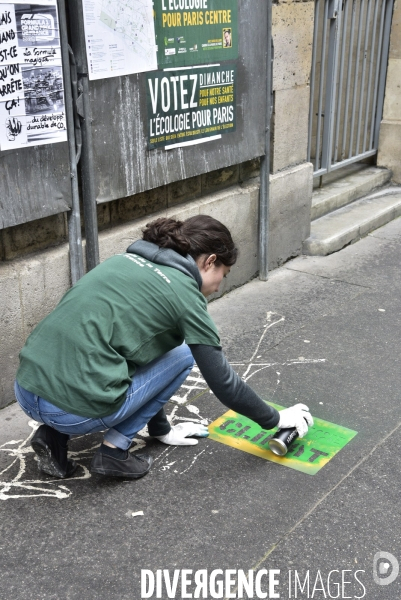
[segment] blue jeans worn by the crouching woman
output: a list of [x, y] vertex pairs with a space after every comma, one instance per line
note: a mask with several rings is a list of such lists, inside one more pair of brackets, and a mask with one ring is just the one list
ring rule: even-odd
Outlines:
[[145, 427], [185, 381], [193, 365], [190, 349], [182, 344], [144, 367], [138, 367], [121, 408], [102, 418], [85, 418], [68, 413], [28, 392], [17, 381], [14, 391], [22, 410], [35, 421], [67, 434], [95, 433], [107, 429], [104, 439], [127, 450], [136, 433]]

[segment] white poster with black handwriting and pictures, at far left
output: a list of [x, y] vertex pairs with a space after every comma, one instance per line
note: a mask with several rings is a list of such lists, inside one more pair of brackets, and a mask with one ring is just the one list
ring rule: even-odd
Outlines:
[[67, 140], [56, 0], [0, 0], [0, 150]]

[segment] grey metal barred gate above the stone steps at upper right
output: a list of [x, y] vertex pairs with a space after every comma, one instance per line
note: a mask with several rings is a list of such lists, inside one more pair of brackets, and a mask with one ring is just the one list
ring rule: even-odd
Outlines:
[[374, 156], [394, 0], [316, 0], [308, 161], [314, 176]]

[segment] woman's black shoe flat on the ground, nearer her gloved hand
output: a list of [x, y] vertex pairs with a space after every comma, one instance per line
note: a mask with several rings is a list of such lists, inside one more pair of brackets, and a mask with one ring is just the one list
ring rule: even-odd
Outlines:
[[139, 479], [146, 475], [153, 463], [148, 454], [130, 454], [126, 450], [124, 458], [116, 458], [101, 452], [100, 448], [92, 458], [91, 473], [108, 477]]

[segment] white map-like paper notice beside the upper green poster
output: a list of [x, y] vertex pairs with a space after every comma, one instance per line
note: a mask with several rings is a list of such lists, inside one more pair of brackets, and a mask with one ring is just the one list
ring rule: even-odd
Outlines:
[[152, 0], [83, 0], [89, 79], [157, 69]]

